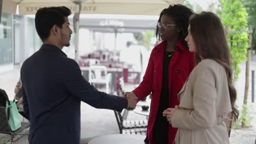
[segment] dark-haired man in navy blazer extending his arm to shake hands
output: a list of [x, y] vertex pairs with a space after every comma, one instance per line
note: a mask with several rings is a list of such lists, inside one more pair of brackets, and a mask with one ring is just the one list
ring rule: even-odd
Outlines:
[[62, 52], [72, 31], [66, 7], [41, 8], [35, 17], [42, 47], [21, 67], [25, 113], [31, 144], [79, 144], [80, 101], [99, 109], [134, 109], [136, 97], [117, 97], [91, 86], [73, 59]]

